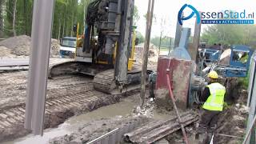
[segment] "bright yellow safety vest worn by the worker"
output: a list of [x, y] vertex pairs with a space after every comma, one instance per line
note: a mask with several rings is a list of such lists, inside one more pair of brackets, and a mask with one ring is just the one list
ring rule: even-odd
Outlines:
[[222, 111], [224, 104], [224, 95], [226, 93], [225, 87], [218, 82], [211, 83], [206, 87], [209, 87], [210, 96], [207, 98], [202, 108], [206, 110]]

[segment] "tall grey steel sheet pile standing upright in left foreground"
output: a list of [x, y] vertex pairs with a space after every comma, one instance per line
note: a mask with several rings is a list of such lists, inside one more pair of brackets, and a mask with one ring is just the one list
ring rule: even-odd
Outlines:
[[54, 0], [34, 0], [25, 128], [43, 133]]

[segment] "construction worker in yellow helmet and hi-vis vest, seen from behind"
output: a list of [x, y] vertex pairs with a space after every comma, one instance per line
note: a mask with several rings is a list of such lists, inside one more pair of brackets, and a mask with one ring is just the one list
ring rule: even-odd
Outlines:
[[210, 71], [208, 77], [210, 78], [210, 83], [200, 97], [200, 101], [204, 102], [204, 104], [202, 106], [203, 113], [199, 122], [198, 134], [196, 134], [196, 139], [199, 138], [201, 143], [209, 143], [209, 137], [214, 134], [214, 130], [217, 127], [218, 114], [223, 110], [224, 95], [226, 93], [226, 88], [218, 83], [216, 71]]

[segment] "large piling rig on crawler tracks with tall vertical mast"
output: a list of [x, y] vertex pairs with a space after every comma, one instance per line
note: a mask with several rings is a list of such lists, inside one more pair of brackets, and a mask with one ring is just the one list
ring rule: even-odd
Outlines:
[[[77, 38], [74, 61], [50, 66], [49, 76], [89, 74], [94, 76], [94, 88], [108, 94], [134, 89], [141, 70], [134, 66], [133, 9], [134, 0], [91, 2], [84, 37]], [[74, 27], [78, 35], [79, 25]]]

